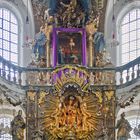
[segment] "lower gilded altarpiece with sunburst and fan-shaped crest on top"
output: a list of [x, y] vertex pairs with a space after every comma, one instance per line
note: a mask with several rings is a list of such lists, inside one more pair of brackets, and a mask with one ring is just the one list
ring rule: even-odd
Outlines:
[[49, 90], [27, 92], [28, 140], [113, 140], [115, 92], [94, 90], [89, 75], [66, 65], [53, 71]]

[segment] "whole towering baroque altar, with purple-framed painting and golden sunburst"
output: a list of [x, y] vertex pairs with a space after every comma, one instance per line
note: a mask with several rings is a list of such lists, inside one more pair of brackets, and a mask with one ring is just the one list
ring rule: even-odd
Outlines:
[[26, 94], [27, 140], [114, 140], [115, 75], [90, 2], [50, 1], [45, 11], [29, 68], [53, 70], [27, 74], [36, 85]]

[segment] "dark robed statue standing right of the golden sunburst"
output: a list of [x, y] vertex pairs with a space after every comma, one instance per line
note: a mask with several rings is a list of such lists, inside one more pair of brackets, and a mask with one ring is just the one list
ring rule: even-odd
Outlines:
[[128, 140], [131, 138], [129, 133], [132, 130], [132, 127], [128, 120], [125, 119], [124, 112], [121, 114], [121, 119], [118, 120], [116, 128], [118, 129], [117, 140]]

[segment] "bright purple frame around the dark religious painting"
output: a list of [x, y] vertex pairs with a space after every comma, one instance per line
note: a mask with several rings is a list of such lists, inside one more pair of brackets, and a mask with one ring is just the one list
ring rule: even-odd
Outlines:
[[82, 50], [81, 50], [81, 64], [83, 66], [86, 66], [86, 31], [84, 28], [53, 28], [53, 34], [52, 34], [52, 51], [53, 51], [53, 61], [52, 61], [52, 66], [56, 67], [58, 65], [58, 58], [57, 58], [57, 49], [58, 49], [58, 37], [59, 33], [64, 32], [66, 34], [69, 33], [81, 33], [81, 45], [82, 45]]

